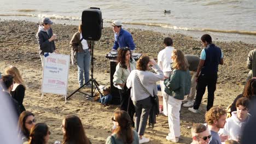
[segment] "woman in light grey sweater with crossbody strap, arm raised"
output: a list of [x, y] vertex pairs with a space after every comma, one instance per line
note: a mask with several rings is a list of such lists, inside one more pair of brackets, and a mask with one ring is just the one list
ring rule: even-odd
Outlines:
[[[149, 65], [153, 65], [152, 73]], [[156, 95], [158, 88], [156, 82], [163, 80], [164, 74], [158, 64], [149, 59], [148, 56], [141, 56], [137, 62], [137, 70], [132, 70], [127, 78], [126, 86], [131, 88], [131, 100], [135, 106], [135, 129], [139, 135], [139, 143], [149, 142], [149, 139], [144, 137], [144, 131], [147, 126], [150, 109], [153, 106], [151, 95]]]

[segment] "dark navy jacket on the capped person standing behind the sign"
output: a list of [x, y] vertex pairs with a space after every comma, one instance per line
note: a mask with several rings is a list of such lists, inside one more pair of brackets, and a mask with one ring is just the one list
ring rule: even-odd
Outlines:
[[49, 35], [45, 31], [39, 31], [37, 33], [40, 55], [44, 55], [44, 52], [53, 53], [56, 49], [54, 40], [51, 42], [49, 41], [51, 36], [53, 36], [53, 29], [50, 28], [48, 33]]

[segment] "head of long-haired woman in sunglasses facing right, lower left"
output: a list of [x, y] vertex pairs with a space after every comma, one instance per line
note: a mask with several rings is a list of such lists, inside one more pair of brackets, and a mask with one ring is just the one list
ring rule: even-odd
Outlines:
[[34, 114], [30, 111], [23, 111], [19, 117], [19, 133], [23, 142], [30, 138], [30, 130], [36, 124]]

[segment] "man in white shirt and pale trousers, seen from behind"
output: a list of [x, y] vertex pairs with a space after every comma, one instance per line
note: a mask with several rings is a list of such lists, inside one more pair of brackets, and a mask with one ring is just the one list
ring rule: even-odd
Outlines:
[[[158, 65], [159, 65], [160, 69], [162, 70], [162, 72], [164, 72], [165, 76], [169, 76], [172, 71], [171, 55], [172, 55], [172, 51], [174, 49], [172, 47], [172, 44], [173, 44], [172, 39], [170, 37], [166, 37], [164, 39], [165, 49], [161, 50], [158, 53]], [[161, 86], [161, 92], [162, 92], [163, 113], [165, 116], [167, 116], [168, 94], [165, 93], [164, 81], [160, 81], [160, 86]]]

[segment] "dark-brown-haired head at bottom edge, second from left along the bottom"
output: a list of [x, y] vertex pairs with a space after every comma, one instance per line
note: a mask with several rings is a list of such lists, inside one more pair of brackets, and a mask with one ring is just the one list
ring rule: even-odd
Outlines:
[[48, 144], [51, 131], [45, 123], [37, 123], [30, 130], [30, 139], [24, 144]]

